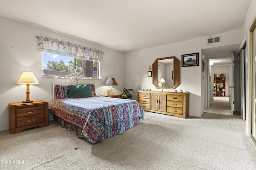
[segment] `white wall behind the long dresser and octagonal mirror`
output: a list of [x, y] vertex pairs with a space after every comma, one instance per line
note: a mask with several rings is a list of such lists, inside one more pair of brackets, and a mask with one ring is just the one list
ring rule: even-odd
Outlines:
[[[152, 47], [138, 51], [132, 51], [125, 55], [125, 84], [127, 88], [134, 89], [134, 99], [136, 91], [142, 88], [156, 89], [152, 84], [152, 78], [147, 76], [148, 66], [157, 58], [175, 56], [181, 61], [181, 55], [190, 53], [199, 53], [199, 66], [181, 67], [180, 68], [180, 85], [176, 90], [190, 92], [190, 115], [201, 117], [204, 113], [204, 79], [205, 72], [202, 72], [201, 49], [218, 47], [241, 43], [241, 31], [232, 31], [218, 34], [222, 36], [222, 42], [212, 45], [206, 45], [206, 38], [193, 39], [159, 47]], [[202, 83], [201, 83], [202, 82]], [[202, 90], [202, 91], [201, 91]], [[164, 90], [174, 91], [174, 90]]]

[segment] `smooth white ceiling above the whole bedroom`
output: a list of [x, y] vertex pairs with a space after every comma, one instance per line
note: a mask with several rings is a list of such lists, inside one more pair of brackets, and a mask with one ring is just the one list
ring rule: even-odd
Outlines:
[[0, 16], [128, 52], [240, 30], [249, 4], [250, 0], [0, 0]]

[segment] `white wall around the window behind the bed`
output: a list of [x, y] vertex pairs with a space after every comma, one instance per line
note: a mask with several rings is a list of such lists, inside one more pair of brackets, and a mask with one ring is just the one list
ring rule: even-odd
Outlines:
[[9, 128], [8, 104], [26, 100], [26, 85], [16, 85], [23, 71], [32, 71], [39, 82], [30, 86], [30, 100], [45, 100], [49, 106], [52, 101], [54, 79], [42, 77], [42, 53], [37, 52], [36, 36], [45, 35], [104, 51], [103, 63], [100, 64], [101, 79], [96, 80], [96, 92], [107, 94], [108, 86], [104, 84], [108, 77], [114, 77], [118, 86], [113, 88], [116, 94], [121, 94], [125, 75], [124, 53], [8, 18], [0, 17], [0, 23], [0, 130]]

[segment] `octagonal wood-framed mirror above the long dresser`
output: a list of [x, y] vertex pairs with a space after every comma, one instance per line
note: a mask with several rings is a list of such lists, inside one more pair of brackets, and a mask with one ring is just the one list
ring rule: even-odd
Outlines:
[[[175, 89], [180, 84], [180, 61], [174, 56], [156, 59], [152, 71], [152, 83], [156, 88]], [[160, 81], [162, 78], [164, 83]]]

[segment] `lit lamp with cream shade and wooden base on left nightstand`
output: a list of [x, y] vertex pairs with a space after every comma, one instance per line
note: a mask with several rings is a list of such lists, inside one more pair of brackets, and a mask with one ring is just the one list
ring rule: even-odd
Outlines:
[[38, 81], [36, 80], [36, 77], [35, 75], [33, 74], [32, 71], [24, 71], [18, 82], [16, 84], [26, 84], [27, 85], [27, 99], [26, 101], [22, 101], [22, 103], [30, 103], [30, 102], [33, 102], [32, 100], [29, 100], [29, 86], [30, 84], [39, 84]]

